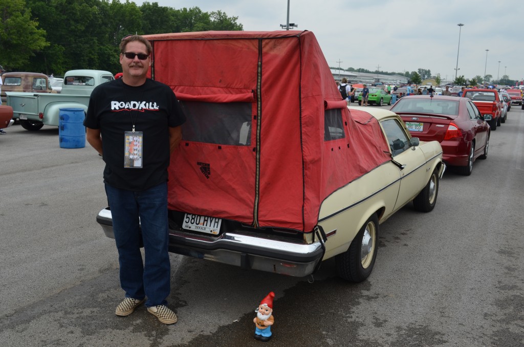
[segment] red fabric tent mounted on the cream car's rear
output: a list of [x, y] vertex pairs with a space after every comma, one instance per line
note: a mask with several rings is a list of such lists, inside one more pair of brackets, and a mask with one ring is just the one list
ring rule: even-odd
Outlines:
[[311, 31], [145, 37], [151, 77], [188, 116], [172, 210], [311, 232], [329, 194], [390, 159], [375, 118], [341, 100]]

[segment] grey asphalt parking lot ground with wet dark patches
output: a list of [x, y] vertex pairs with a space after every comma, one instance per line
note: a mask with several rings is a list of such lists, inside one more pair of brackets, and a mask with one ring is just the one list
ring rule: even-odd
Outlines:
[[[356, 106], [353, 103], [352, 106]], [[369, 106], [378, 107], [378, 106]], [[389, 106], [383, 106], [389, 108]], [[469, 177], [448, 170], [428, 214], [407, 205], [380, 228], [373, 274], [346, 283], [326, 261], [313, 283], [171, 255], [165, 326], [123, 298], [103, 161], [59, 147], [58, 129], [0, 136], [0, 341], [5, 346], [255, 346], [255, 308], [275, 291], [275, 346], [524, 345], [524, 111], [512, 107]]]

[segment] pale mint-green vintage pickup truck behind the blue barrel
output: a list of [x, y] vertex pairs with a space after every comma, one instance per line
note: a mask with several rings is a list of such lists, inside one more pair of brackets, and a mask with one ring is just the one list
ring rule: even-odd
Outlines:
[[60, 94], [7, 92], [7, 104], [13, 107], [13, 117], [18, 118], [26, 130], [58, 126], [60, 109], [75, 107], [85, 112], [95, 86], [113, 79], [109, 71], [71, 70], [64, 75]]

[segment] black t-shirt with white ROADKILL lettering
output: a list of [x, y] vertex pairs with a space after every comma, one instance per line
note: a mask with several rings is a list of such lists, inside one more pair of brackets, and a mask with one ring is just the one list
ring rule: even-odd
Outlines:
[[[122, 79], [103, 83], [91, 93], [84, 125], [100, 129], [105, 161], [104, 182], [126, 190], [142, 191], [167, 181], [169, 127], [185, 116], [169, 86], [147, 79], [134, 87]], [[124, 167], [125, 132], [143, 132], [143, 167]]]

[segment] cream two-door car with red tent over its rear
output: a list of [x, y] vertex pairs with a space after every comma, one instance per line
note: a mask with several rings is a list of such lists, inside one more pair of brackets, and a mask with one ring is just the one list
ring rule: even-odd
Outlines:
[[[298, 277], [335, 257], [363, 281], [379, 224], [411, 201], [435, 206], [440, 144], [391, 111], [347, 107], [311, 31], [146, 38], [151, 77], [187, 116], [169, 167], [171, 252]], [[113, 237], [110, 208], [97, 221]]]

